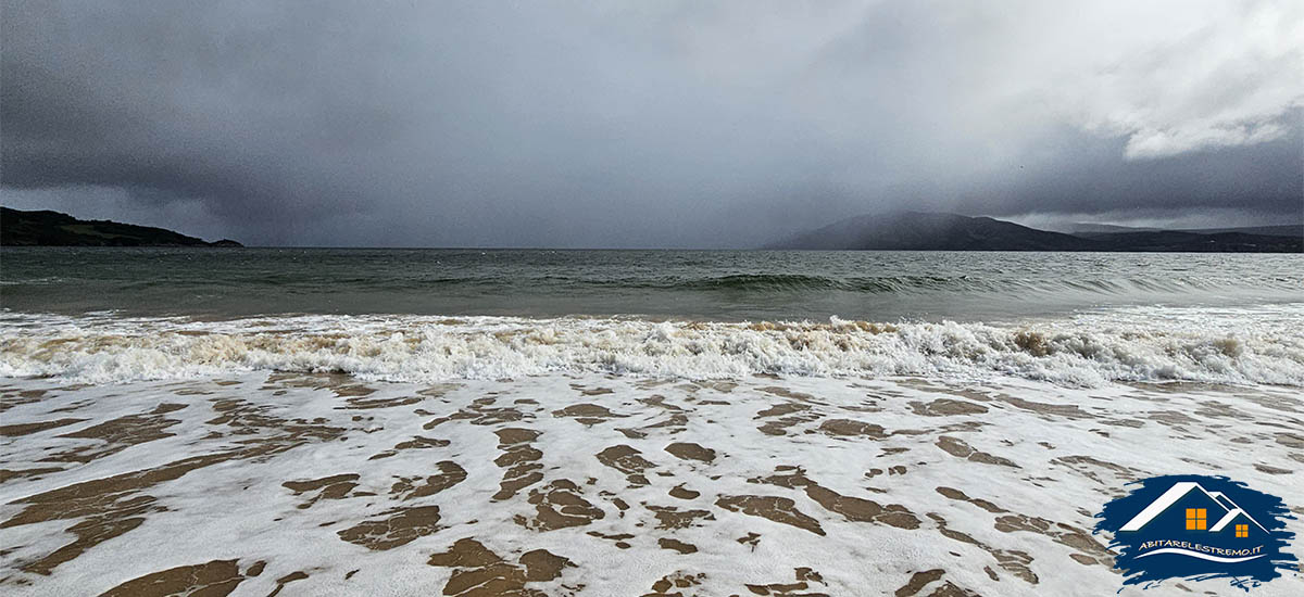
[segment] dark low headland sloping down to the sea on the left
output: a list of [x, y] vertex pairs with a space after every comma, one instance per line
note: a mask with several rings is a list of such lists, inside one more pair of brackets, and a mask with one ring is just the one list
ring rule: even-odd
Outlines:
[[110, 220], [80, 220], [57, 211], [0, 207], [4, 246], [244, 246], [233, 240], [207, 242], [163, 228]]

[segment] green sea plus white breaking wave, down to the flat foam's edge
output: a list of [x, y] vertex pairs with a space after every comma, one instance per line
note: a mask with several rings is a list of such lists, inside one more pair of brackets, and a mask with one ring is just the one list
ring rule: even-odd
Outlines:
[[1304, 258], [7, 249], [0, 375], [1304, 385]]

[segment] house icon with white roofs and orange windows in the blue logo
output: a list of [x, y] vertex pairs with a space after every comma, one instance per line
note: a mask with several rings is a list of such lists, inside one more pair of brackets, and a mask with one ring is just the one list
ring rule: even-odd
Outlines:
[[1209, 491], [1198, 482], [1181, 481], [1168, 488], [1141, 512], [1128, 520], [1125, 531], [1184, 532], [1228, 544], [1262, 538], [1267, 529], [1236, 502], [1221, 491]]

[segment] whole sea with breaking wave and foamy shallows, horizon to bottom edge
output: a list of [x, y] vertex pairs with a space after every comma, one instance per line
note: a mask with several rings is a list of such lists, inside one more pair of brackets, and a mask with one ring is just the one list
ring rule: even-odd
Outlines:
[[1301, 594], [1094, 532], [1301, 395], [1299, 254], [5, 248], [0, 592]]

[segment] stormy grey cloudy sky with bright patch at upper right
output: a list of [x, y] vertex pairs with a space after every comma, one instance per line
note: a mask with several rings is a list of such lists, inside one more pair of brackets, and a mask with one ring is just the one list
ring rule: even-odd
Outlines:
[[0, 203], [316, 246], [1304, 222], [1304, 3], [0, 0]]

